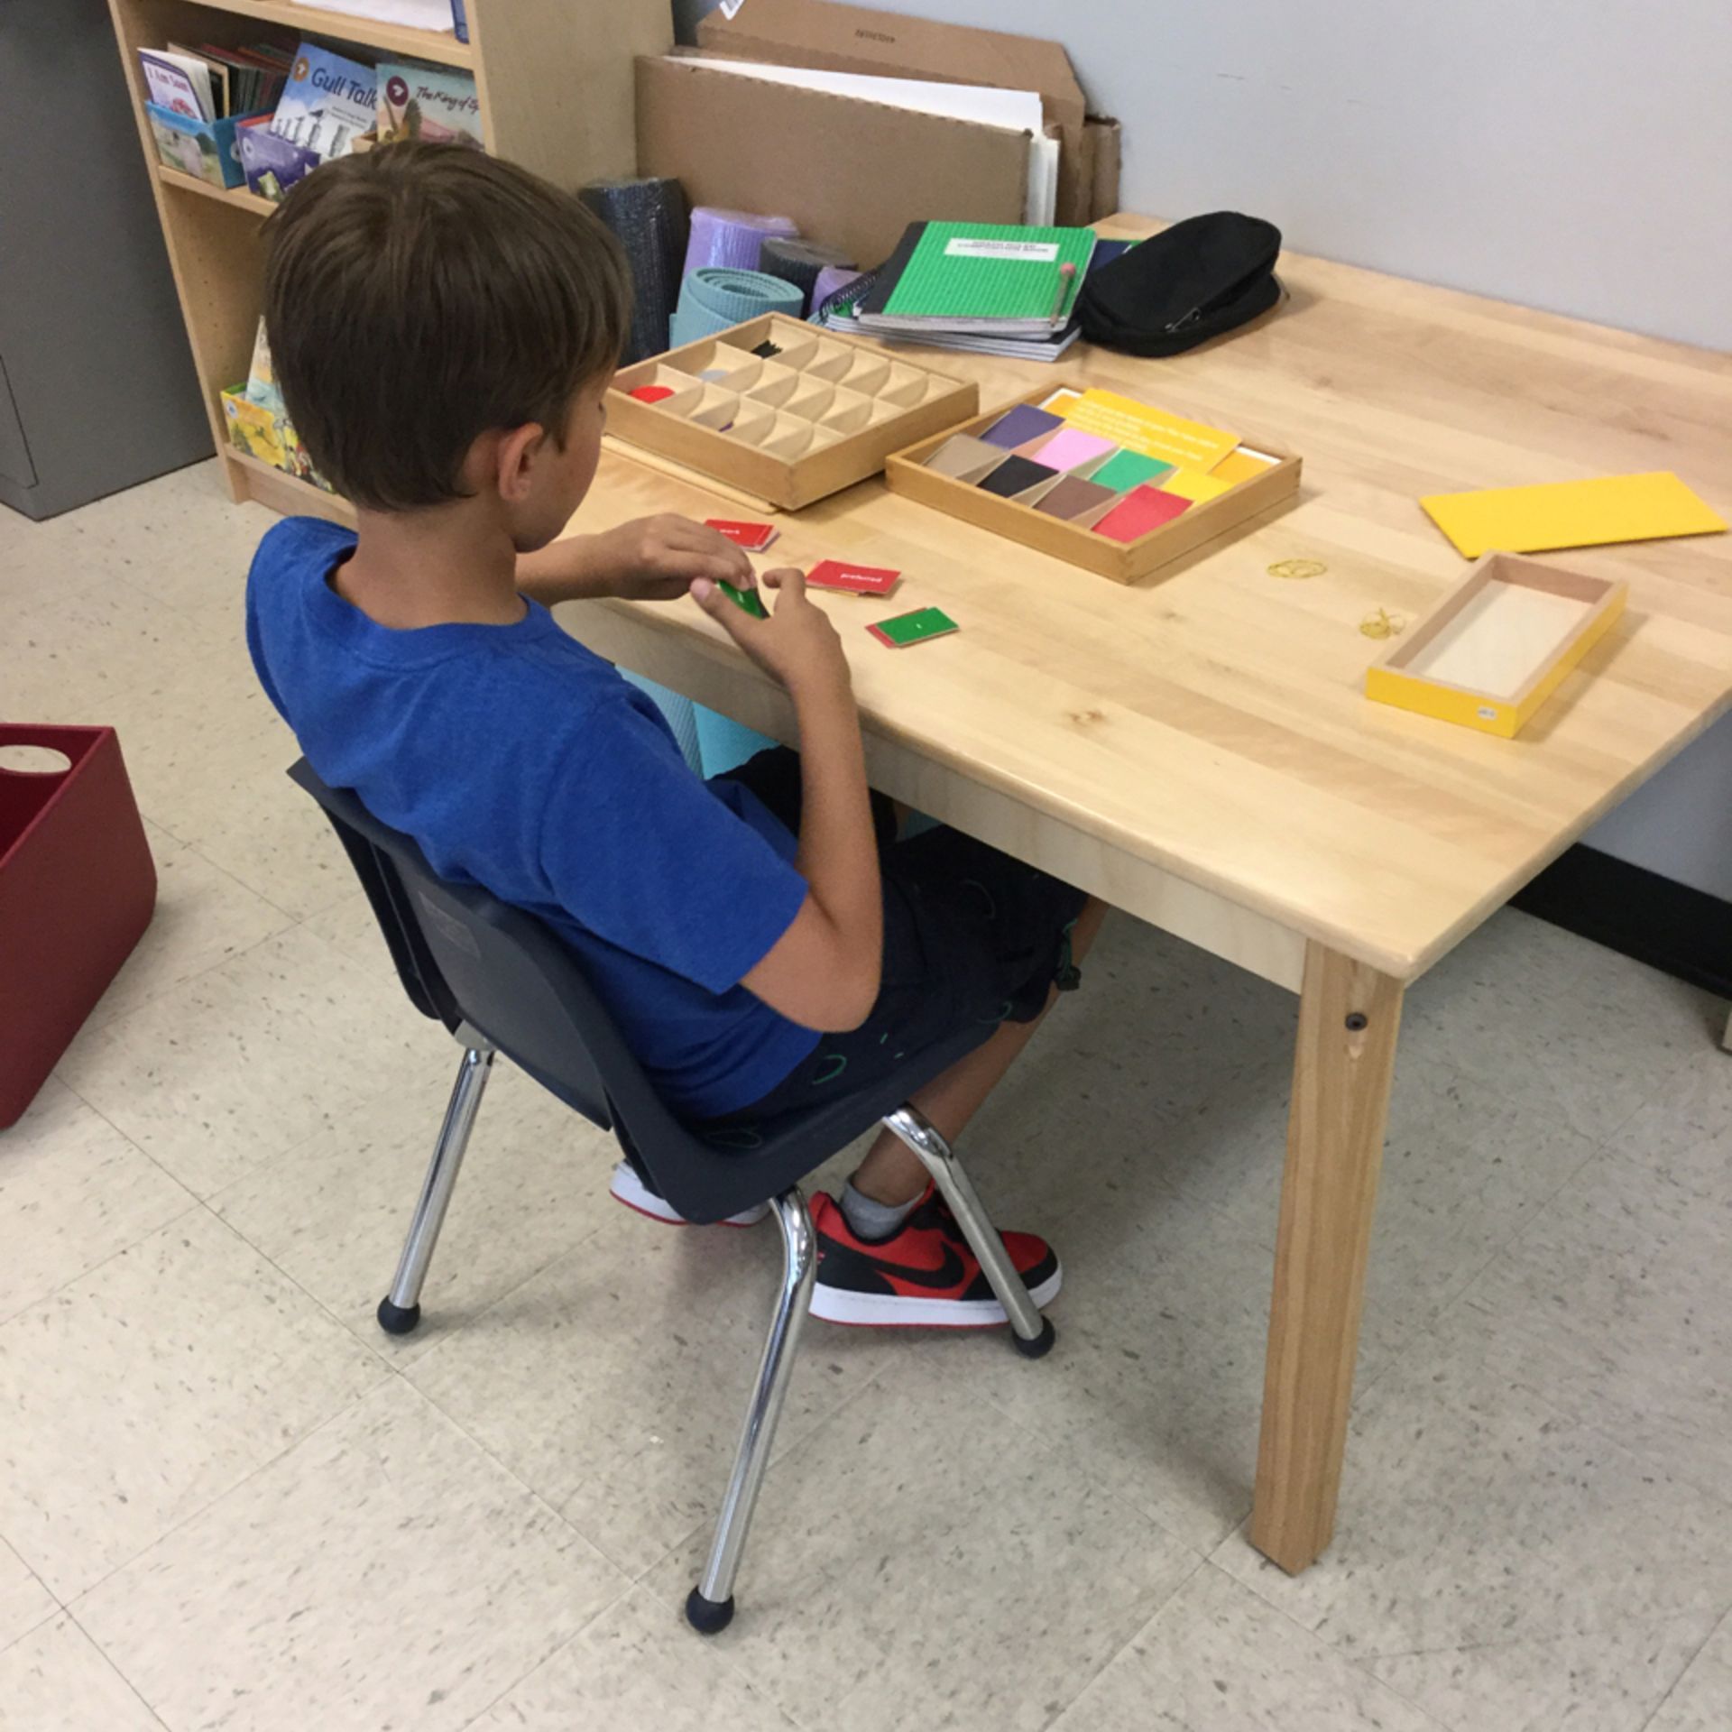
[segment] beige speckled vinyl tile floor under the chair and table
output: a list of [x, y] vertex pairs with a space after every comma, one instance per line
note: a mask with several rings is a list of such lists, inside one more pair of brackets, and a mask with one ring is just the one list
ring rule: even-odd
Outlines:
[[267, 523], [0, 509], [0, 710], [118, 726], [161, 878], [0, 1133], [3, 1732], [1732, 1725], [1725, 1006], [1517, 913], [1408, 999], [1315, 1569], [1245, 1540], [1294, 1001], [1115, 920], [966, 1140], [1058, 1349], [814, 1323], [688, 1633], [774, 1228], [618, 1209], [502, 1067], [378, 1332], [456, 1051], [284, 779]]

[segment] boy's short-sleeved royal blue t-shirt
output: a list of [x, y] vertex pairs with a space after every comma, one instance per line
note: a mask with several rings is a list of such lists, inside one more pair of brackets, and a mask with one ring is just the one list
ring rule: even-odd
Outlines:
[[546, 608], [390, 630], [329, 584], [353, 546], [289, 518], [246, 585], [253, 665], [312, 767], [442, 878], [553, 927], [669, 1107], [712, 1117], [769, 1093], [818, 1044], [740, 986], [805, 897], [795, 837], [695, 776], [655, 703]]

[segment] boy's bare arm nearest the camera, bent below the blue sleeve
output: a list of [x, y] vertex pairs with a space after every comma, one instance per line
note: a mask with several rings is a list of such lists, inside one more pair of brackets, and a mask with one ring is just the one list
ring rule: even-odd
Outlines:
[[698, 604], [793, 698], [800, 724], [800, 850], [807, 894], [743, 986], [809, 1029], [856, 1029], [878, 998], [883, 887], [866, 792], [859, 712], [842, 641], [805, 599], [805, 578], [771, 572], [776, 611], [753, 620], [707, 582]]

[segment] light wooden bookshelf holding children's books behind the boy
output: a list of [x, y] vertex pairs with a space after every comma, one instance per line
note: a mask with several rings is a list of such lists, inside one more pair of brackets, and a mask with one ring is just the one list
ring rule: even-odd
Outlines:
[[468, 0], [468, 43], [298, 0], [109, 0], [109, 12], [229, 492], [274, 511], [338, 521], [350, 521], [346, 501], [229, 443], [220, 393], [246, 378], [253, 357], [263, 267], [258, 230], [274, 206], [246, 187], [211, 187], [158, 161], [137, 50], [168, 42], [293, 47], [315, 36], [359, 61], [457, 66], [475, 73], [487, 149], [577, 187], [636, 173], [632, 62], [639, 54], [665, 54], [674, 42], [665, 0]]

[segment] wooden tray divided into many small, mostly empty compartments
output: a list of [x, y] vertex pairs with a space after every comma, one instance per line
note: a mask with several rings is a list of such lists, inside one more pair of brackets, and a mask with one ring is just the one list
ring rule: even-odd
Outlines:
[[[766, 343], [776, 353], [753, 353]], [[646, 386], [670, 395], [653, 404], [630, 395]], [[764, 313], [617, 372], [608, 431], [798, 511], [979, 407], [973, 385]]]

